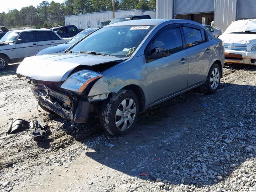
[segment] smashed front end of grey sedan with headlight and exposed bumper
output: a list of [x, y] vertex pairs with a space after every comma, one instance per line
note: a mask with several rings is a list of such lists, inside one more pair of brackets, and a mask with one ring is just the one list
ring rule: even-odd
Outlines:
[[108, 93], [88, 97], [90, 88], [102, 74], [90, 70], [75, 72], [64, 82], [29, 79], [32, 92], [42, 108], [55, 112], [73, 123], [86, 123], [94, 101], [103, 100]]

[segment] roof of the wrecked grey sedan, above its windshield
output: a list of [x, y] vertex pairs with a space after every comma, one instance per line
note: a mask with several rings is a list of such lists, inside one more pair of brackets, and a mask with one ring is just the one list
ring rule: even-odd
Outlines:
[[191, 21], [191, 20], [185, 20], [185, 19], [138, 19], [138, 20], [130, 20], [130, 21], [123, 21], [118, 23], [113, 23], [106, 25], [104, 27], [111, 27], [111, 26], [128, 26], [128, 25], [134, 25], [134, 26], [156, 26], [160, 23], [188, 23], [188, 24], [194, 24], [197, 26], [202, 26], [200, 23]]

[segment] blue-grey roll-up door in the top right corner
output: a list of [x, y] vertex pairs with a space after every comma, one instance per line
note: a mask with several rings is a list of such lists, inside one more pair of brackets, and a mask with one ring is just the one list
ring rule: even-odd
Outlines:
[[237, 19], [256, 18], [256, 0], [238, 0]]

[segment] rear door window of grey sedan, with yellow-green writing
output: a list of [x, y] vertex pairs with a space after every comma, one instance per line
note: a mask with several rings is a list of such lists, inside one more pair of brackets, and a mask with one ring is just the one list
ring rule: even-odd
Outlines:
[[184, 27], [183, 29], [188, 47], [195, 46], [205, 41], [203, 30], [192, 27]]

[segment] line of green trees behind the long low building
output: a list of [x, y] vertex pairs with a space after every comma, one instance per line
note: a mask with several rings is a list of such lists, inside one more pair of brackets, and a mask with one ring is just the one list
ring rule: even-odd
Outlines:
[[[115, 10], [155, 10], [156, 0], [115, 0]], [[91, 12], [112, 11], [112, 0], [64, 0], [63, 3], [42, 1], [36, 7], [0, 13], [0, 26], [8, 28], [35, 26], [36, 28], [63, 25], [64, 16]]]

